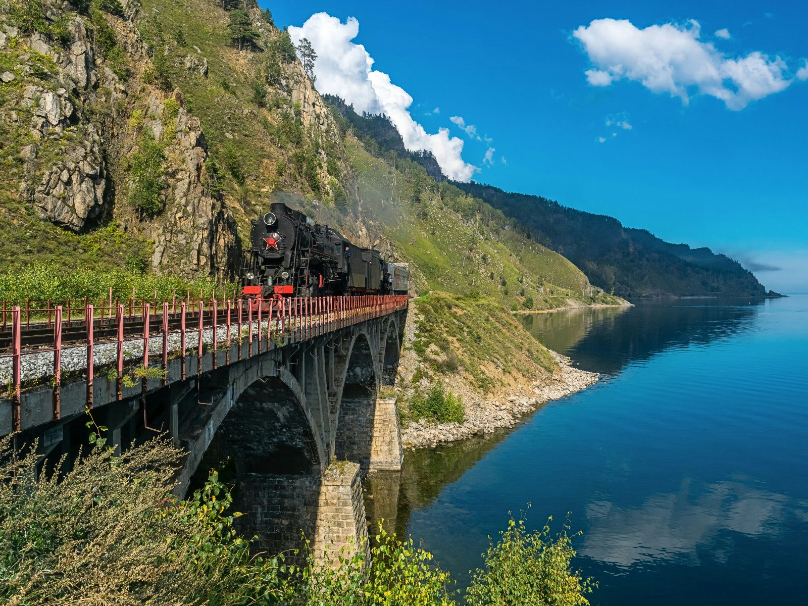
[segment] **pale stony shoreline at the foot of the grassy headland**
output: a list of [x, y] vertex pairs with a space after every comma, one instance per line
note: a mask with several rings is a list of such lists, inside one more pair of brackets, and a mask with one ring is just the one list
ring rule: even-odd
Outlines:
[[516, 423], [546, 402], [586, 389], [598, 381], [597, 372], [587, 372], [572, 366], [572, 360], [551, 351], [558, 361], [553, 375], [532, 385], [532, 395], [511, 395], [491, 401], [481, 400], [466, 406], [463, 423], [429, 423], [426, 420], [402, 427], [405, 449], [427, 448], [464, 440], [471, 436], [493, 433], [500, 427], [513, 427]]

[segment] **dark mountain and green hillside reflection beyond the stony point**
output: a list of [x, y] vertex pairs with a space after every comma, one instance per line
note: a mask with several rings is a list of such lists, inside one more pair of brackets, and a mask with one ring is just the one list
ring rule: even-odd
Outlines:
[[547, 347], [586, 370], [615, 374], [671, 348], [726, 339], [765, 305], [764, 300], [675, 299], [631, 308], [579, 309], [524, 316], [522, 326]]

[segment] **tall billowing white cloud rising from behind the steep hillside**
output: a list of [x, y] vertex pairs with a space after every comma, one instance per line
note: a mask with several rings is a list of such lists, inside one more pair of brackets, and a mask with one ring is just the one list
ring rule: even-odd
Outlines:
[[327, 13], [317, 13], [302, 27], [288, 29], [292, 42], [299, 44], [307, 38], [317, 53], [314, 76], [321, 93], [342, 97], [360, 113], [385, 114], [398, 129], [406, 149], [430, 151], [450, 179], [471, 179], [478, 168], [461, 158], [462, 139], [451, 137], [448, 128], [427, 133], [410, 116], [412, 97], [390, 82], [387, 74], [372, 69], [373, 59], [368, 51], [351, 42], [359, 34], [359, 21], [349, 17], [346, 23], [341, 23]]

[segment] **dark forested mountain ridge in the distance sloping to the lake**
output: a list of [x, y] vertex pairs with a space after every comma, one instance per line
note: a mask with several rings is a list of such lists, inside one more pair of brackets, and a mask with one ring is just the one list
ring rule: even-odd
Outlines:
[[[431, 154], [406, 149], [388, 116], [360, 116], [339, 97], [324, 99], [341, 116], [343, 128], [350, 124], [372, 155], [392, 151], [418, 162], [436, 182], [446, 179]], [[621, 297], [779, 296], [766, 292], [741, 263], [708, 247], [666, 242], [648, 229], [625, 227], [615, 217], [566, 207], [543, 196], [504, 191], [486, 183], [449, 183], [515, 219], [528, 238], [564, 255], [592, 284]], [[600, 246], [583, 244], [599, 241]]]

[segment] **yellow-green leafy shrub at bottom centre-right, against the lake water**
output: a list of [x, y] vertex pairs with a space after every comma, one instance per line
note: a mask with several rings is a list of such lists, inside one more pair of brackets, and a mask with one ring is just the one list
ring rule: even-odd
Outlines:
[[597, 583], [582, 578], [580, 570], [571, 570], [575, 550], [567, 536], [569, 529], [567, 519], [553, 538], [548, 524], [541, 531], [528, 532], [524, 516], [521, 520], [511, 517], [496, 544], [489, 537], [489, 548], [482, 554], [486, 567], [473, 572], [466, 604], [589, 604], [585, 596]]

